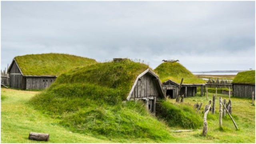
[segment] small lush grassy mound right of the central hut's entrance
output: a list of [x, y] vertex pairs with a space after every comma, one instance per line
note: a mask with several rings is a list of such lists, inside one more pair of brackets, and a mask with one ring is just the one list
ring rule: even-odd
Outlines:
[[183, 128], [199, 128], [202, 126], [202, 118], [196, 114], [191, 106], [185, 104], [176, 105], [168, 101], [158, 102], [157, 116], [167, 122], [169, 126], [181, 126]]

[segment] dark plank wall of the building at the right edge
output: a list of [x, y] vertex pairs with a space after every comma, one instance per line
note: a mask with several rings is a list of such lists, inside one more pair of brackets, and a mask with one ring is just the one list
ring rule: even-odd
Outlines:
[[252, 98], [252, 92], [254, 92], [255, 98], [255, 85], [233, 84], [234, 97]]

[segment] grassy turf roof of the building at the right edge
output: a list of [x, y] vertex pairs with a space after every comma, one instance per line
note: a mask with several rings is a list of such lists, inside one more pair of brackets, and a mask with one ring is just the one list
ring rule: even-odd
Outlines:
[[255, 70], [239, 72], [234, 78], [233, 84], [255, 84]]

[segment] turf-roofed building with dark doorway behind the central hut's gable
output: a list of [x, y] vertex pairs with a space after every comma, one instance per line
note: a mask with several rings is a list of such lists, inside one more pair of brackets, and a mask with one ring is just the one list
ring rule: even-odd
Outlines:
[[180, 96], [183, 94], [184, 97], [195, 96], [198, 86], [201, 87], [201, 96], [203, 95], [206, 82], [196, 78], [194, 74], [178, 62], [163, 62], [154, 71], [159, 75], [166, 97], [176, 98], [182, 78]]

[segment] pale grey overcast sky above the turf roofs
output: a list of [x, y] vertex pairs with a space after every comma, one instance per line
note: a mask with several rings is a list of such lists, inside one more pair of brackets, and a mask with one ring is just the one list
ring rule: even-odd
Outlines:
[[58, 52], [152, 68], [255, 69], [250, 2], [1, 2], [1, 68], [14, 56]]

